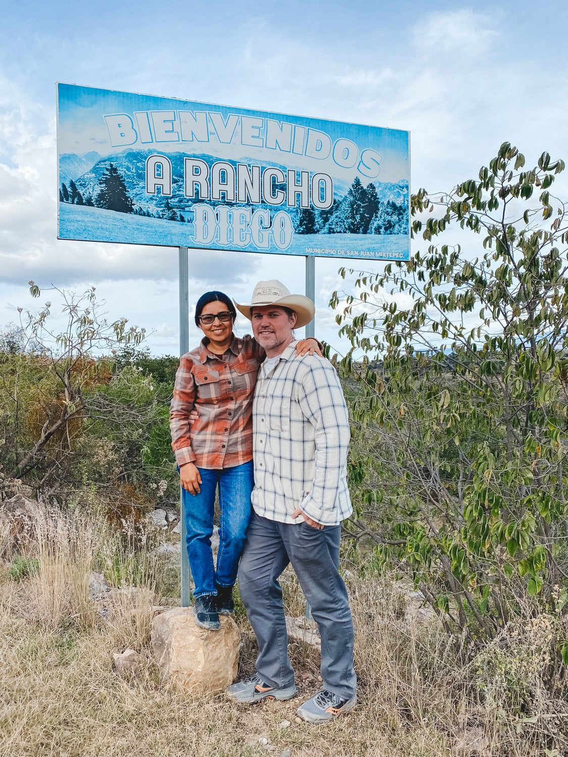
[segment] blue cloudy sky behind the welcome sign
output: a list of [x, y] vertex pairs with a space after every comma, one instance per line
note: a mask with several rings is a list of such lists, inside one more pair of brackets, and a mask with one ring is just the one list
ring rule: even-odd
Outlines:
[[[412, 188], [448, 190], [505, 140], [529, 163], [568, 159], [567, 21], [563, 0], [3, 3], [0, 328], [37, 306], [29, 279], [95, 285], [109, 318], [178, 350], [176, 249], [56, 238], [55, 82], [409, 129]], [[343, 263], [316, 272], [317, 334], [339, 347], [327, 302]], [[301, 257], [190, 251], [189, 270], [190, 304], [211, 288], [250, 301], [259, 279], [304, 288]]]

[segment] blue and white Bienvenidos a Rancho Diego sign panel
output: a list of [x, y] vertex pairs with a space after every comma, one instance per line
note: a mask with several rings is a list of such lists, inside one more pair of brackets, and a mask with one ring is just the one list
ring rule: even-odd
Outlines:
[[407, 260], [409, 136], [59, 84], [58, 236]]

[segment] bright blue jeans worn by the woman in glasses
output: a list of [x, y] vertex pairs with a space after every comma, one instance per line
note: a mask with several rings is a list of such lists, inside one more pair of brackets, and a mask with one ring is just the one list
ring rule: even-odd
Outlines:
[[[189, 494], [182, 489], [186, 510], [187, 553], [195, 589], [193, 597], [217, 594], [217, 584], [233, 586], [239, 558], [251, 520], [251, 491], [254, 486], [252, 460], [234, 468], [199, 468], [201, 491]], [[213, 565], [211, 534], [215, 491], [219, 487], [221, 511], [217, 569]]]

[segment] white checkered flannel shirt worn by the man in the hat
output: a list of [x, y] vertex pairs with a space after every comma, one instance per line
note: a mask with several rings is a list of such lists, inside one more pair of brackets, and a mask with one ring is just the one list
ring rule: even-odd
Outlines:
[[273, 369], [261, 367], [252, 410], [258, 515], [298, 523], [299, 506], [323, 525], [351, 515], [347, 487], [349, 420], [335, 369], [317, 355], [286, 347]]

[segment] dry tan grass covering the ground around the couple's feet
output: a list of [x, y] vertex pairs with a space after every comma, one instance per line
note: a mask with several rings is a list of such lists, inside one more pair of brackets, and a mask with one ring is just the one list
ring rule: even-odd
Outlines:
[[[476, 696], [476, 666], [460, 662], [460, 641], [435, 625], [407, 625], [388, 579], [349, 578], [360, 705], [314, 727], [295, 723], [300, 698], [237, 706], [222, 695], [192, 699], [160, 681], [149, 635], [164, 563], [150, 547], [134, 559], [99, 523], [45, 513], [36, 557], [39, 572], [30, 578], [13, 581], [0, 571], [0, 755], [252, 757], [290, 749], [295, 757], [435, 757], [452, 746], [465, 755], [475, 752], [457, 752], [454, 737], [468, 723], [478, 725], [485, 757], [560, 757], [566, 746], [554, 718], [545, 717], [551, 702], [541, 704], [540, 719], [520, 724], [500, 714], [498, 697]], [[137, 576], [147, 588], [118, 593], [103, 617], [101, 604], [87, 598], [87, 584], [92, 567], [105, 561], [126, 583]], [[300, 615], [291, 573], [283, 584], [288, 612]], [[239, 626], [240, 668], [248, 673], [254, 637], [242, 615]], [[139, 651], [144, 665], [123, 679], [112, 654], [126, 647]], [[319, 656], [300, 643], [291, 643], [290, 654], [299, 696], [307, 698], [319, 687]]]

